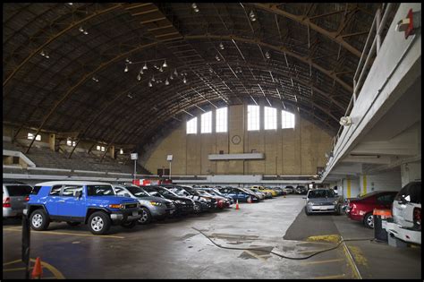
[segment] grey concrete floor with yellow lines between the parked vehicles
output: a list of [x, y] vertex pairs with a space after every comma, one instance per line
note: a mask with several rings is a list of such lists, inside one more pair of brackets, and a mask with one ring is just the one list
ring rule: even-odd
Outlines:
[[[45, 278], [358, 278], [343, 247], [307, 242], [313, 235], [372, 238], [373, 230], [345, 216], [306, 217], [298, 195], [243, 203], [187, 218], [159, 221], [131, 230], [113, 226], [108, 235], [91, 235], [86, 226], [52, 223], [31, 231], [30, 257], [43, 261]], [[268, 252], [227, 250], [261, 248]], [[3, 227], [3, 277], [23, 278], [21, 226]], [[397, 249], [370, 241], [346, 242], [361, 278], [421, 278], [420, 248]]]

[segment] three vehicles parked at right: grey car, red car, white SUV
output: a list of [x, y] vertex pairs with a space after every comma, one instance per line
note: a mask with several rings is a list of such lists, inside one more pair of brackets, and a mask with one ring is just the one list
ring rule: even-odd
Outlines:
[[374, 209], [391, 209], [392, 217], [386, 221], [388, 235], [421, 244], [421, 182], [406, 184], [400, 191], [374, 191], [344, 201], [332, 189], [312, 189], [304, 199], [308, 216], [321, 212], [344, 213], [367, 228], [374, 228]]

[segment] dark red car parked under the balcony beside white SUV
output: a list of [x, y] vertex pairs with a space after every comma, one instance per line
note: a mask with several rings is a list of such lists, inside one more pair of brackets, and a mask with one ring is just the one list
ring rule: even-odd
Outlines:
[[375, 191], [362, 195], [359, 198], [348, 199], [346, 214], [348, 218], [362, 221], [364, 226], [374, 228], [374, 209], [392, 209], [394, 196], [397, 191]]

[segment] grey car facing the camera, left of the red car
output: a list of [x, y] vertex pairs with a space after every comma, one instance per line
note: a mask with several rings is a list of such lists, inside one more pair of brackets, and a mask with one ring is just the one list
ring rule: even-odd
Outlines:
[[305, 213], [333, 212], [339, 213], [340, 200], [332, 189], [319, 188], [310, 190], [306, 197]]

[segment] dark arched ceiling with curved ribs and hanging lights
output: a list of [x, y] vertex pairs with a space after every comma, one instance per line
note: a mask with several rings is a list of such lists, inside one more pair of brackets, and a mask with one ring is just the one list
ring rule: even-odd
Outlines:
[[140, 145], [209, 108], [263, 103], [335, 132], [381, 6], [4, 4], [3, 119]]

